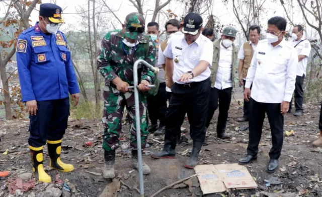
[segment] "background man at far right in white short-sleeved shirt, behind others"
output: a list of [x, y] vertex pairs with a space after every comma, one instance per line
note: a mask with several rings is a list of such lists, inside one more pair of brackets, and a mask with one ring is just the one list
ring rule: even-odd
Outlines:
[[[292, 33], [292, 45], [297, 51], [298, 54], [298, 67], [296, 71], [296, 82], [295, 82], [295, 91], [294, 91], [294, 105], [295, 105], [295, 116], [301, 116], [303, 113], [303, 100], [304, 100], [304, 90], [303, 83], [306, 75], [306, 65], [308, 56], [311, 51], [311, 44], [308, 40], [303, 37], [303, 27], [296, 25], [293, 28]], [[290, 102], [289, 113], [292, 109], [292, 100]]]

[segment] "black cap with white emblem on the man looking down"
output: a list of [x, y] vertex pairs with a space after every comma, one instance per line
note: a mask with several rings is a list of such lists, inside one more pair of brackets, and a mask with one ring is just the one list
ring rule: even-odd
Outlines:
[[198, 30], [201, 27], [202, 27], [201, 16], [197, 13], [189, 13], [183, 21], [182, 33], [197, 35]]

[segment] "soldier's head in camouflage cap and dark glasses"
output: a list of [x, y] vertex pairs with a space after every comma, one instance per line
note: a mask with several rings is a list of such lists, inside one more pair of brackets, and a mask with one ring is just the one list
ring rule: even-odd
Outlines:
[[145, 30], [145, 19], [139, 13], [130, 13], [126, 16], [124, 22], [126, 32], [125, 36], [132, 39], [141, 41], [145, 37], [143, 32]]

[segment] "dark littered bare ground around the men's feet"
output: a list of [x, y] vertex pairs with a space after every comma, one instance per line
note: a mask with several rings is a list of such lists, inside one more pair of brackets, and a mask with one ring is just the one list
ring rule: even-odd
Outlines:
[[[246, 155], [248, 142], [248, 130], [238, 132], [239, 126], [245, 123], [238, 123], [236, 119], [243, 114], [241, 105], [235, 102], [231, 104], [229, 110], [229, 121], [227, 124], [227, 134], [232, 136], [231, 140], [220, 140], [216, 138], [215, 126], [218, 117], [216, 111], [212, 124], [208, 129], [209, 145], [202, 148], [199, 164], [221, 164], [237, 163], [240, 157]], [[284, 146], [279, 160], [279, 170], [273, 174], [266, 172], [269, 161], [269, 150], [271, 148], [270, 126], [267, 118], [264, 122], [263, 135], [260, 143], [258, 160], [247, 165], [250, 173], [256, 178], [258, 189], [235, 190], [223, 193], [225, 196], [322, 196], [322, 149], [313, 148], [311, 143], [317, 139], [319, 103], [306, 104], [305, 113], [302, 117], [294, 117], [292, 114], [285, 115], [285, 130], [294, 130], [295, 136], [284, 138]], [[0, 171], [9, 170], [9, 178], [17, 177], [24, 172], [31, 172], [29, 149], [27, 144], [28, 121], [0, 121]], [[144, 176], [145, 196], [150, 196], [158, 189], [165, 187], [179, 179], [194, 174], [193, 170], [185, 169], [184, 163], [189, 157], [192, 141], [189, 138], [189, 123], [185, 120], [182, 125], [183, 136], [188, 142], [183, 142], [177, 147], [176, 159], [152, 160], [149, 157], [151, 152], [162, 149], [163, 137], [148, 138], [149, 147], [145, 149], [143, 159], [150, 166], [151, 174]], [[111, 180], [103, 178], [103, 150], [102, 150], [102, 124], [96, 120], [70, 120], [66, 135], [64, 136], [62, 148], [62, 160], [72, 163], [75, 170], [71, 173], [60, 173], [60, 178], [68, 179], [76, 186], [73, 196], [99, 196], [106, 185]], [[138, 174], [132, 170], [130, 163], [130, 150], [128, 145], [129, 132], [127, 124], [123, 125], [123, 135], [121, 145], [125, 149], [118, 149], [116, 158], [116, 173], [121, 180], [120, 190], [117, 196], [139, 196]], [[93, 142], [93, 146], [83, 147], [85, 142]], [[158, 141], [158, 142], [157, 142]], [[9, 149], [8, 155], [3, 155]], [[48, 166], [48, 153], [45, 148], [44, 166]], [[88, 171], [88, 172], [86, 172]], [[94, 175], [93, 173], [99, 173]], [[52, 179], [55, 179], [56, 170], [48, 172]], [[264, 180], [269, 180], [273, 176], [280, 182], [265, 186]], [[8, 178], [7, 178], [8, 179]], [[0, 195], [10, 196], [6, 188], [6, 180], [0, 180]], [[158, 194], [157, 196], [202, 196], [199, 183], [196, 178], [192, 179], [192, 193], [187, 185], [179, 185], [184, 188], [171, 188]], [[111, 184], [110, 184], [111, 185]], [[33, 192], [41, 191], [42, 183], [36, 185]], [[61, 188], [61, 187], [60, 187]], [[36, 190], [38, 189], [38, 190]], [[23, 194], [28, 196], [31, 191]], [[279, 192], [279, 193], [277, 193]], [[33, 195], [30, 195], [33, 196]], [[63, 195], [68, 196], [68, 195]], [[110, 196], [110, 195], [102, 195]], [[113, 195], [111, 195], [113, 196]], [[205, 196], [223, 196], [220, 193], [208, 194]], [[255, 195], [256, 196], [256, 195]]]

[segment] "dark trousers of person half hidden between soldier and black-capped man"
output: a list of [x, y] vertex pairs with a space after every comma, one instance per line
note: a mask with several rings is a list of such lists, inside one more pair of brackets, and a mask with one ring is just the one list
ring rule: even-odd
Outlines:
[[166, 125], [167, 101], [170, 100], [171, 93], [166, 91], [166, 83], [160, 83], [159, 90], [155, 96], [146, 98], [147, 111], [151, 124]]

